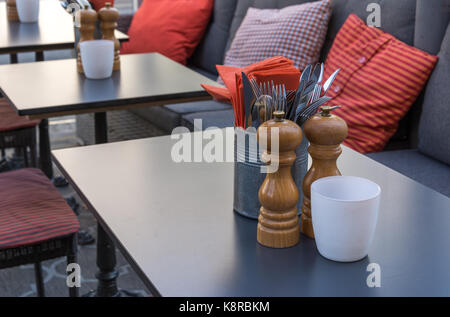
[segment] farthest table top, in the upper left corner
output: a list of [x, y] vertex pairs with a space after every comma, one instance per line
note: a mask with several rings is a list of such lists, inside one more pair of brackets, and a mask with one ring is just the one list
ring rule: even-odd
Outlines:
[[[73, 48], [72, 17], [58, 0], [41, 0], [38, 23], [10, 22], [6, 3], [0, 2], [0, 54]], [[128, 36], [116, 31], [120, 41]]]

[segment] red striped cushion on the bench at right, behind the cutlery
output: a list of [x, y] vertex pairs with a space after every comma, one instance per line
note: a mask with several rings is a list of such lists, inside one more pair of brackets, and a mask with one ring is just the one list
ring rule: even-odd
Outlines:
[[350, 15], [325, 61], [324, 78], [339, 75], [328, 104], [348, 124], [344, 144], [361, 153], [381, 151], [430, 76], [437, 57], [409, 46]]

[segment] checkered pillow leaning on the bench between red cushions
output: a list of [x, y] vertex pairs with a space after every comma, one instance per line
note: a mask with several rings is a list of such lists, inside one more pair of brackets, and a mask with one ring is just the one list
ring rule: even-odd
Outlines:
[[331, 16], [330, 0], [283, 9], [249, 8], [225, 55], [225, 65], [244, 67], [285, 56], [300, 70], [316, 63]]

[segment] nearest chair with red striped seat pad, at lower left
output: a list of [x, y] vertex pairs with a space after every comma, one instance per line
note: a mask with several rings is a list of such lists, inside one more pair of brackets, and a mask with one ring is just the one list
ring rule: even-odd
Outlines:
[[[66, 256], [67, 263], [76, 263], [79, 226], [41, 170], [0, 174], [0, 269], [34, 264], [38, 296], [44, 296], [41, 261]], [[77, 296], [77, 288], [69, 294]]]

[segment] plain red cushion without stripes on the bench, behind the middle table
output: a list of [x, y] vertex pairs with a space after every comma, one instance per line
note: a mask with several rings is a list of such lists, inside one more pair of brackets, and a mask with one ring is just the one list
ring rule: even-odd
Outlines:
[[159, 52], [186, 64], [208, 25], [213, 0], [144, 0], [121, 53]]

